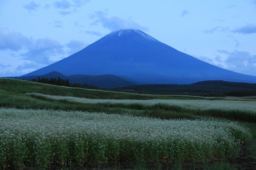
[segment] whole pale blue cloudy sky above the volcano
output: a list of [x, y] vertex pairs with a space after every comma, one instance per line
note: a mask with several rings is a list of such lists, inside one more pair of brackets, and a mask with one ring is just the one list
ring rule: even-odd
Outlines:
[[0, 77], [37, 70], [128, 28], [256, 76], [256, 0], [1, 0]]

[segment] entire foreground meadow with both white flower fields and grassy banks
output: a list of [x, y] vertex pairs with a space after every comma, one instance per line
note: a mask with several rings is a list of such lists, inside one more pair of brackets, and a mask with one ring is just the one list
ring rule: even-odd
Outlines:
[[0, 79], [0, 169], [253, 169], [255, 103]]

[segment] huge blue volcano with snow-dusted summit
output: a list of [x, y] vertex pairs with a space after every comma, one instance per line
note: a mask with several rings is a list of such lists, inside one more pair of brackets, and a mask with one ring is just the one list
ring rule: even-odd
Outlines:
[[204, 80], [256, 83], [255, 76], [225, 70], [182, 53], [133, 29], [106, 35], [81, 51], [28, 73], [113, 74], [140, 84], [190, 84]]

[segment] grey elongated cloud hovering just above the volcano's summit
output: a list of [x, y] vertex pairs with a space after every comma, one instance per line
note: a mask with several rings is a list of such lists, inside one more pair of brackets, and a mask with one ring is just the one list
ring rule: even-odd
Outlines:
[[90, 15], [90, 18], [95, 19], [91, 25], [102, 24], [103, 27], [108, 28], [111, 31], [119, 29], [140, 29], [141, 31], [148, 31], [148, 27], [141, 26], [131, 19], [122, 19], [119, 17], [108, 18], [106, 15], [107, 14], [103, 11], [97, 11]]

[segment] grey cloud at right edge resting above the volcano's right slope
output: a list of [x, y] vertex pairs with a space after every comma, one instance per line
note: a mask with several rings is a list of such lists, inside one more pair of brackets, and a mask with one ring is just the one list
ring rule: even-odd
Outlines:
[[228, 70], [256, 76], [256, 55], [251, 55], [249, 52], [238, 50], [233, 52], [218, 50], [218, 52], [227, 56], [224, 60], [224, 64]]

